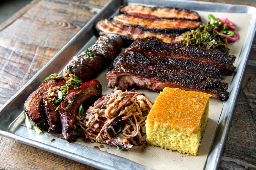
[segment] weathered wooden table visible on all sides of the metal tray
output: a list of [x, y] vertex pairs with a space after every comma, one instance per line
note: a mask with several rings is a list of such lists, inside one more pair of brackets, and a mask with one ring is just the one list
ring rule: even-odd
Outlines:
[[[34, 0], [1, 24], [0, 106], [107, 2], [108, 0]], [[255, 73], [256, 41], [245, 70], [219, 169], [256, 169]], [[94, 168], [0, 136], [0, 169]]]

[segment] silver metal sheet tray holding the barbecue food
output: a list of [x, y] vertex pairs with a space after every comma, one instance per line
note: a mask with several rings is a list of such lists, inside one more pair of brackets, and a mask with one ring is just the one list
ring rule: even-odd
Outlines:
[[[40, 136], [34, 135], [34, 133], [28, 132], [25, 126], [21, 126], [24, 122], [24, 116], [22, 114], [23, 104], [30, 93], [38, 88], [45, 77], [54, 72], [61, 72], [66, 62], [71, 60], [74, 55], [80, 53], [81, 50], [89, 48], [89, 46], [95, 42], [93, 27], [97, 20], [113, 16], [120, 6], [127, 5], [128, 3], [172, 6], [208, 12], [251, 14], [250, 25], [245, 36], [246, 41], [243, 42], [241, 53], [237, 61], [237, 70], [230, 83], [229, 92], [231, 93], [229, 99], [223, 104], [222, 113], [220, 114], [208, 157], [204, 164], [204, 169], [217, 169], [255, 35], [256, 8], [252, 6], [186, 0], [111, 0], [47, 63], [47, 65], [38, 71], [38, 73], [1, 108], [0, 135], [98, 169], [150, 169], [126, 158], [102, 152], [79, 143], [67, 143], [62, 138], [56, 138], [54, 142], [50, 142], [50, 138], [52, 138], [51, 135], [47, 133]], [[70, 58], [66, 56], [70, 56]], [[65, 146], [65, 149], [63, 146]]]

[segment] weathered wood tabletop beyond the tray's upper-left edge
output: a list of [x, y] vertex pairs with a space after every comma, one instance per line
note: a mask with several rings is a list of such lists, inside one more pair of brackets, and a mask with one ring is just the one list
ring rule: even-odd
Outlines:
[[[42, 0], [0, 31], [0, 106], [35, 75], [108, 1]], [[22, 63], [20, 63], [21, 61]]]

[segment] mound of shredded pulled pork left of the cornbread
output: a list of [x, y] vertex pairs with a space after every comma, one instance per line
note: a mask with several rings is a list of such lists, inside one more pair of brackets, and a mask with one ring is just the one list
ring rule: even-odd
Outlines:
[[79, 124], [87, 138], [128, 150], [142, 145], [146, 115], [153, 102], [132, 89], [119, 89], [99, 98], [81, 117]]

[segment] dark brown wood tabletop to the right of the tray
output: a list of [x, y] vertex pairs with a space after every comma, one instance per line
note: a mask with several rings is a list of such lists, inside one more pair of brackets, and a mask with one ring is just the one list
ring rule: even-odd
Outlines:
[[256, 38], [247, 63], [220, 169], [256, 169]]

